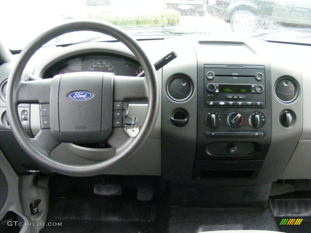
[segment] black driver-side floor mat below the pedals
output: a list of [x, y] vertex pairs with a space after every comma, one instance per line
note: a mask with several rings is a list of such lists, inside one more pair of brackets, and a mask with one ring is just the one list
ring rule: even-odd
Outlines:
[[126, 196], [100, 196], [89, 191], [69, 192], [50, 197], [46, 226], [40, 233], [120, 233], [148, 232], [156, 215], [156, 205]]

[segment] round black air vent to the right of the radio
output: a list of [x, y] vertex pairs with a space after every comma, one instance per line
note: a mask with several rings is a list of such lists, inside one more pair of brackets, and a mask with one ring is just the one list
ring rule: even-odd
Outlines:
[[298, 85], [291, 77], [281, 77], [276, 82], [275, 94], [281, 102], [291, 103], [298, 96]]

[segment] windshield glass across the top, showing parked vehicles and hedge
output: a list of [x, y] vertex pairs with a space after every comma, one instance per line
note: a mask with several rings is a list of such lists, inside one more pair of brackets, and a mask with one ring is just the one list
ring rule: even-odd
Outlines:
[[[209, 34], [311, 42], [310, 0], [2, 0], [0, 19], [0, 39], [14, 50], [72, 20], [106, 21], [142, 39]], [[111, 39], [76, 32], [46, 46]]]

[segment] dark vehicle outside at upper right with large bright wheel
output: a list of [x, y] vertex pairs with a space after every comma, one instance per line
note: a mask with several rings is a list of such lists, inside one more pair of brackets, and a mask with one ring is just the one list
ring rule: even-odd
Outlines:
[[250, 33], [271, 23], [311, 26], [310, 0], [208, 0], [207, 12], [229, 22], [233, 32]]

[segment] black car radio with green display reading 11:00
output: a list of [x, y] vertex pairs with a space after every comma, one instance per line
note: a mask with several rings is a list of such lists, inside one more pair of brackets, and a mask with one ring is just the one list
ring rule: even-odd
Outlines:
[[204, 66], [204, 106], [265, 107], [264, 66]]

